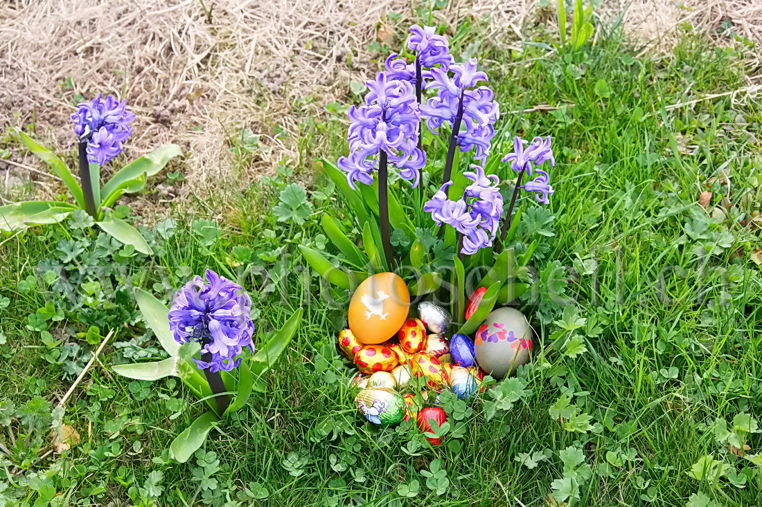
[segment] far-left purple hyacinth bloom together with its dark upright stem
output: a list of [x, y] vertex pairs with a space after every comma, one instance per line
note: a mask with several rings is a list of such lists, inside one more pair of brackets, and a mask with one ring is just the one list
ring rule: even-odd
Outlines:
[[104, 165], [124, 149], [124, 142], [133, 133], [130, 123], [135, 115], [121, 102], [109, 95], [101, 100], [101, 94], [89, 102], [77, 105], [72, 113], [74, 132], [79, 140], [79, 177], [85, 197], [85, 211], [98, 218], [94, 188], [100, 189], [99, 171], [90, 164]]

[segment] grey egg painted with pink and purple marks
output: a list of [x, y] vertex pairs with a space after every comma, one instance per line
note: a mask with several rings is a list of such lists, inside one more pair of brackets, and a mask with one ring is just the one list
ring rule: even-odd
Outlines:
[[476, 362], [485, 373], [501, 379], [529, 362], [532, 336], [527, 317], [520, 311], [498, 308], [476, 331]]

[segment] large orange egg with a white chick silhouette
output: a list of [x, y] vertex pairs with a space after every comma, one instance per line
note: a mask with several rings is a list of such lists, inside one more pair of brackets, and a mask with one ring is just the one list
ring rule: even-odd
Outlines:
[[389, 340], [405, 323], [410, 306], [408, 286], [394, 273], [365, 279], [349, 301], [349, 328], [365, 344]]

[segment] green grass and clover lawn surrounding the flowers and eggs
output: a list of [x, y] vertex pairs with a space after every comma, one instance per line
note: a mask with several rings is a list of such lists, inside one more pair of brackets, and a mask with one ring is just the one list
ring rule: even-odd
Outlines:
[[[479, 27], [469, 30], [460, 48], [479, 39]], [[535, 42], [553, 37], [537, 33]], [[528, 507], [562, 505], [549, 493], [575, 484], [575, 505], [762, 505], [759, 467], [729, 452], [713, 430], [717, 418], [729, 423], [740, 413], [762, 415], [762, 278], [748, 257], [759, 232], [733, 215], [712, 221], [696, 204], [707, 188], [713, 191], [709, 209], [721, 203], [727, 187], [711, 178], [726, 174], [737, 212], [748, 219], [759, 211], [754, 171], [762, 116], [753, 100], [733, 102], [729, 95], [671, 107], [743, 88], [743, 61], [689, 32], [666, 56], [638, 56], [616, 33], [581, 51], [550, 56], [529, 45], [522, 53], [486, 51], [482, 61], [501, 110], [566, 104], [504, 113], [493, 150], [509, 151], [505, 132], [554, 137], [549, 210], [555, 236], [537, 263], [558, 260], [567, 266], [559, 273], [570, 278], [562, 295], [569, 310], [553, 307], [552, 318], [562, 325], [536, 316], [542, 352], [519, 383], [495, 387], [516, 395], [510, 410], [487, 420], [486, 404], [470, 403], [465, 435], [450, 438], [460, 445], [440, 448], [422, 444], [409, 424], [378, 429], [360, 419], [345, 383], [351, 371], [334, 346], [345, 310], [325, 307], [318, 280], [304, 286], [296, 249], [325, 242], [315, 218], [341, 205], [316, 194], [308, 222], [277, 222], [269, 209], [293, 177], [284, 173], [213, 203], [213, 209], [229, 206], [219, 231], [206, 234], [203, 216], [176, 214], [174, 235], [159, 242], [163, 248], [155, 257], [123, 259], [126, 271], [112, 276], [168, 298], [189, 273], [207, 266], [233, 273], [244, 258], [253, 260], [268, 274], [245, 282], [257, 308], [258, 343], [293, 309], [306, 312], [296, 340], [267, 378], [267, 394], [255, 394], [189, 464], [168, 464], [162, 451], [203, 407], [174, 379], [147, 383], [110, 373], [107, 366], [124, 355], [123, 348], [111, 348], [63, 419], [81, 442], [16, 470], [11, 482], [24, 483], [18, 505], [143, 505], [141, 496], [151, 505], [158, 496], [158, 505]], [[307, 155], [332, 158], [344, 151], [335, 120], [342, 114], [306, 124], [309, 136], [328, 143]], [[311, 160], [303, 165], [312, 167]], [[312, 190], [321, 190], [319, 175], [316, 181]], [[744, 192], [748, 199], [741, 199]], [[529, 228], [523, 234], [529, 236]], [[23, 283], [40, 260], [56, 256], [57, 241], [70, 233], [60, 226], [38, 234], [0, 246], [0, 301], [9, 299], [0, 311], [6, 337], [0, 388], [17, 405], [33, 397], [56, 403], [71, 383], [65, 365], [44, 359], [62, 344], [41, 344], [43, 333], [27, 327], [46, 292], [25, 290]], [[83, 322], [110, 323], [126, 308], [114, 341], [149, 348], [152, 338], [141, 341], [131, 301], [105, 301], [117, 309], [103, 310], [103, 301], [91, 309], [80, 301], [62, 320], [50, 320], [51, 336], [87, 346], [75, 335], [87, 329]], [[537, 309], [524, 308], [529, 314]], [[563, 329], [579, 319], [580, 330]], [[559, 346], [573, 333], [586, 352]], [[0, 430], [5, 445], [9, 432], [22, 438], [23, 425]], [[758, 434], [744, 440], [749, 454], [762, 451]], [[570, 446], [581, 451], [583, 463], [565, 454]], [[514, 459], [521, 453], [533, 454], [536, 467]], [[706, 456], [728, 465], [719, 480], [690, 477]]]

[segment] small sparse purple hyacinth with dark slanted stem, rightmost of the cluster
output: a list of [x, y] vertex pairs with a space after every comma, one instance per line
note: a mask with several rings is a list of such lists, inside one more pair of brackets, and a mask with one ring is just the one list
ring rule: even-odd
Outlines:
[[[546, 171], [539, 168], [545, 162], [549, 162], [551, 167], [555, 165], [555, 158], [553, 158], [553, 150], [550, 145], [551, 139], [549, 137], [545, 139], [536, 137], [527, 146], [524, 146], [525, 143], [526, 141], [516, 136], [514, 139], [514, 152], [503, 158], [504, 162], [511, 162], [511, 169], [517, 172], [518, 176], [513, 196], [511, 196], [511, 204], [508, 205], [505, 222], [501, 229], [501, 243], [505, 239], [508, 229], [511, 228], [512, 214], [520, 189], [536, 193], [535, 199], [540, 204], [550, 204], [548, 196], [551, 196], [553, 193], [553, 188], [550, 186], [550, 177]], [[533, 177], [533, 179], [522, 185], [524, 175]], [[496, 251], [499, 250], [500, 247], [498, 246]]]

